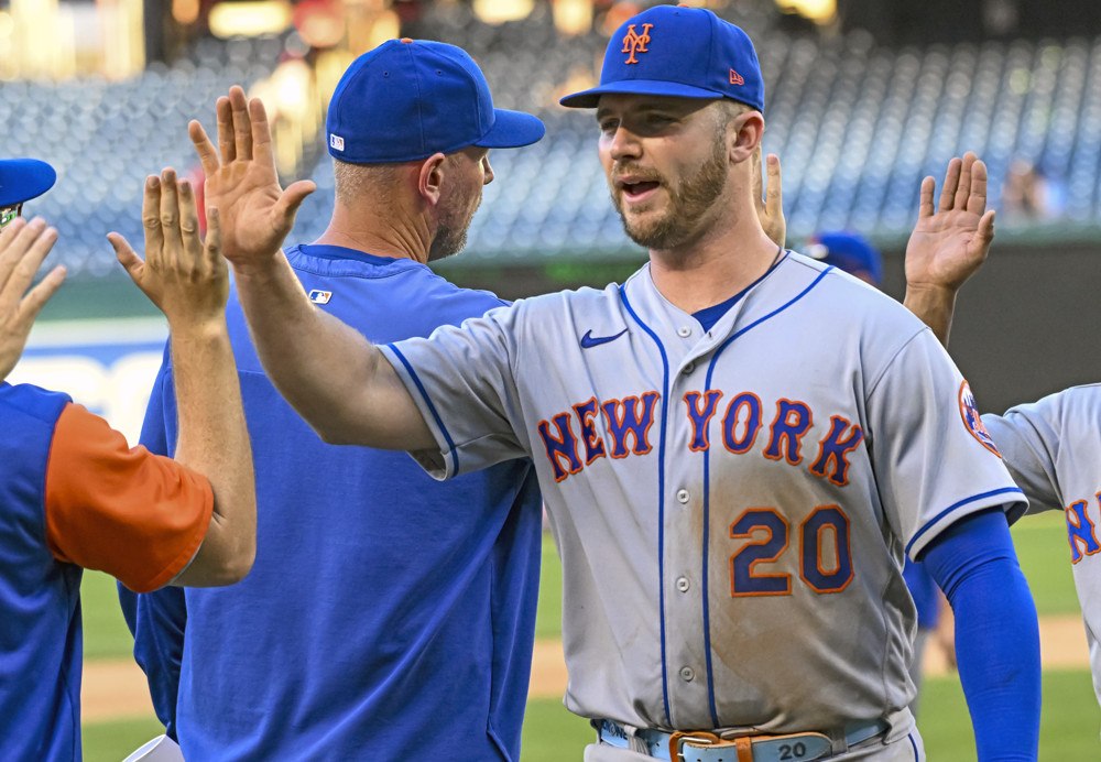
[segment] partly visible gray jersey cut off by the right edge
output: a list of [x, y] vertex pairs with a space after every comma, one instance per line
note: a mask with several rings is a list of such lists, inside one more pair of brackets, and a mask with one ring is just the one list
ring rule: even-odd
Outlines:
[[1062, 511], [1101, 704], [1101, 384], [1072, 387], [1005, 415], [984, 415], [1029, 512]]

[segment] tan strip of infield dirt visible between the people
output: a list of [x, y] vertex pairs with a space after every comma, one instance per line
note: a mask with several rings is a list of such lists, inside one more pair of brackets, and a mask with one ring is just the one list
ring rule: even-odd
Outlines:
[[[1044, 617], [1040, 628], [1040, 657], [1045, 668], [1080, 668], [1089, 665], [1086, 631], [1080, 617]], [[926, 674], [947, 672], [944, 657], [929, 649]], [[532, 665], [533, 698], [558, 698], [566, 689], [566, 665], [562, 643], [537, 641]], [[145, 676], [130, 660], [88, 662], [84, 666], [80, 692], [84, 720], [102, 722], [153, 714]]]

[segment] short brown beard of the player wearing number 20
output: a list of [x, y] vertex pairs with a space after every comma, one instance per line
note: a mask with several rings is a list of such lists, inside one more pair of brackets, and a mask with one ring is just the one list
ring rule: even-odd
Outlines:
[[646, 249], [666, 250], [689, 239], [696, 224], [722, 194], [727, 183], [727, 144], [721, 134], [716, 135], [711, 148], [711, 155], [694, 176], [680, 183], [678, 192], [667, 188], [669, 208], [656, 220], [629, 221], [619, 197], [612, 194], [623, 230], [632, 241]]

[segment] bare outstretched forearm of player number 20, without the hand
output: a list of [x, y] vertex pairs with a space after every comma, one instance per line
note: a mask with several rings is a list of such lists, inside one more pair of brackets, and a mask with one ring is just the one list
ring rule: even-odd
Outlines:
[[282, 253], [263, 266], [236, 269], [235, 280], [264, 372], [325, 442], [435, 445], [379, 348], [315, 307]]

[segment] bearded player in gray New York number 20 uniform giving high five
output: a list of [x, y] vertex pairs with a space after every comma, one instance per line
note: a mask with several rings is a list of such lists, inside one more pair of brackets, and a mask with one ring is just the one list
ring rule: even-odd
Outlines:
[[[565, 700], [599, 732], [587, 760], [924, 759], [904, 555], [960, 621], [1018, 633], [961, 629], [960, 671], [980, 759], [1035, 759], [1038, 633], [1006, 523], [1025, 501], [929, 330], [762, 230], [748, 37], [652, 8], [563, 102], [597, 107], [646, 265], [380, 347], [316, 309], [265, 240], [293, 186], [255, 188], [225, 251], [276, 388], [327, 440], [403, 448], [439, 478], [533, 457]], [[979, 175], [913, 246], [989, 244], [990, 218], [964, 213]]]

